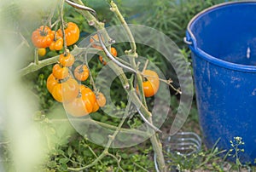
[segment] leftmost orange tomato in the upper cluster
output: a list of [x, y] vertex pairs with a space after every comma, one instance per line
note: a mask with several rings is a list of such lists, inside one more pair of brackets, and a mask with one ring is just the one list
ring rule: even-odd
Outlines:
[[37, 48], [47, 48], [54, 39], [54, 33], [49, 26], [40, 26], [32, 32], [32, 43]]

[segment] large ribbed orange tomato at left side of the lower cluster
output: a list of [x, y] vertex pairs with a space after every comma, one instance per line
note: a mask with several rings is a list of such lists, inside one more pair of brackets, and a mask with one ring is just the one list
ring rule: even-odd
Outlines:
[[59, 102], [70, 102], [79, 95], [79, 83], [72, 77], [60, 80], [50, 74], [47, 79], [47, 89]]

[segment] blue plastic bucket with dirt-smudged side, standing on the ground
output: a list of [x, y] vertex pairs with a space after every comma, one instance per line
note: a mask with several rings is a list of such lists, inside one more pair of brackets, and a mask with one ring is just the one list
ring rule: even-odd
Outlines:
[[[244, 141], [241, 163], [256, 158], [256, 2], [221, 3], [197, 14], [185, 42], [192, 52], [195, 95], [207, 147]], [[231, 152], [232, 153], [232, 152]], [[233, 152], [234, 153], [234, 152]]]

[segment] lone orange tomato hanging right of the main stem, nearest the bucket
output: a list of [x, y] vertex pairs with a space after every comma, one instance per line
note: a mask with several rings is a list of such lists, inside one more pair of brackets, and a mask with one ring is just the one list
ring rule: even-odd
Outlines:
[[143, 81], [143, 91], [145, 97], [151, 97], [155, 95], [160, 86], [160, 79], [156, 72], [151, 70], [145, 70], [143, 72], [146, 81]]

